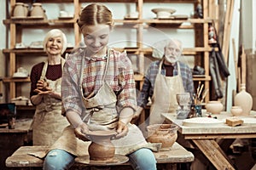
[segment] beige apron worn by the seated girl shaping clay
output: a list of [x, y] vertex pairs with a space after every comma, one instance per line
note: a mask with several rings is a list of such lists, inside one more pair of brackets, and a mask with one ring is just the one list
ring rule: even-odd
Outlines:
[[[103, 85], [98, 93], [90, 98], [84, 98], [83, 101], [86, 107], [86, 114], [83, 121], [87, 123], [90, 130], [110, 130], [117, 127], [119, 121], [119, 114], [116, 111], [117, 97], [113, 89], [105, 82], [105, 77], [108, 71], [109, 54], [107, 64], [103, 76]], [[84, 58], [82, 59], [84, 65]], [[80, 73], [80, 86], [82, 89], [83, 69]], [[83, 93], [82, 93], [83, 94]], [[114, 139], [112, 143], [115, 146], [115, 154], [127, 155], [131, 152], [143, 147], [147, 147], [148, 143], [143, 137], [143, 133], [136, 125], [128, 124], [129, 133], [121, 138]], [[78, 139], [74, 135], [74, 128], [67, 127], [61, 138], [54, 144], [52, 149], [66, 150], [74, 156], [84, 156], [88, 154], [88, 143]]]

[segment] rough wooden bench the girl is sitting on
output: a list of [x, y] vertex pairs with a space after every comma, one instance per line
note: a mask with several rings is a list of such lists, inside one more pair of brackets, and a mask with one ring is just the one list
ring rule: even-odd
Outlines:
[[[44, 160], [31, 156], [30, 153], [44, 153], [47, 149], [47, 146], [21, 146], [12, 156], [6, 159], [6, 167], [42, 169]], [[181, 163], [194, 161], [194, 155], [177, 143], [173, 144], [171, 150], [154, 152], [154, 156], [158, 169], [177, 169]], [[88, 164], [76, 162], [71, 169], [90, 169], [90, 167]], [[129, 162], [110, 167], [111, 169], [131, 169]]]

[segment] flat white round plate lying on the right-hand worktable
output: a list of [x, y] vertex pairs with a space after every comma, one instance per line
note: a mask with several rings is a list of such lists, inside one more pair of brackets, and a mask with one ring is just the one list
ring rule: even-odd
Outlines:
[[219, 121], [212, 117], [193, 117], [183, 120], [183, 126], [186, 127], [216, 127], [222, 124], [224, 124], [223, 121]]

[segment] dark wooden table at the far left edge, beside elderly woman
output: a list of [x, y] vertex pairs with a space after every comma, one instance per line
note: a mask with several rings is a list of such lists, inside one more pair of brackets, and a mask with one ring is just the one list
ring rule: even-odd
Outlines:
[[32, 119], [22, 119], [15, 122], [15, 129], [0, 128], [0, 167], [5, 167], [5, 159], [20, 146], [26, 144], [29, 139], [29, 127]]

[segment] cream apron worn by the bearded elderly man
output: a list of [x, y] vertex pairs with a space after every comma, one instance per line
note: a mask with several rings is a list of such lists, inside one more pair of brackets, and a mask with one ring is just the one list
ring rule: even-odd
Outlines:
[[161, 74], [163, 60], [160, 62], [159, 72], [155, 77], [154, 94], [150, 108], [149, 124], [160, 124], [165, 121], [161, 113], [172, 113], [177, 110], [176, 94], [184, 92], [179, 63], [177, 62], [177, 76], [166, 77]]

